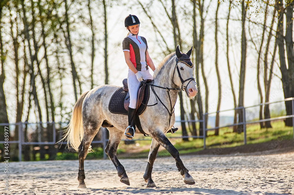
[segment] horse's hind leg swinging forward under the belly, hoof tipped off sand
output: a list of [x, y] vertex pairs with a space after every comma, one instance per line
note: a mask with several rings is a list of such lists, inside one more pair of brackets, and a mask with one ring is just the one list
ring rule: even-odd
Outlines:
[[125, 168], [118, 161], [116, 157], [116, 150], [118, 144], [121, 142], [121, 137], [123, 136], [123, 131], [118, 130], [115, 127], [107, 128], [109, 130], [109, 141], [105, 148], [106, 154], [109, 156], [110, 160], [113, 162], [113, 165], [116, 167], [118, 177], [120, 177], [120, 182], [130, 185], [130, 181], [126, 174]]

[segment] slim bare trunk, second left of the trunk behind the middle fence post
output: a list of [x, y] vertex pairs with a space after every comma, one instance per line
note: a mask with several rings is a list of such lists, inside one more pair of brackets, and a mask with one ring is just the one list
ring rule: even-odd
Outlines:
[[215, 30], [215, 39], [216, 39], [216, 74], [218, 77], [218, 106], [216, 109], [216, 130], [214, 132], [214, 135], [219, 134], [219, 110], [220, 110], [220, 100], [221, 100], [221, 83], [220, 83], [220, 73], [218, 71], [218, 8], [219, 8], [220, 2], [218, 2], [218, 5], [216, 7], [216, 30]]

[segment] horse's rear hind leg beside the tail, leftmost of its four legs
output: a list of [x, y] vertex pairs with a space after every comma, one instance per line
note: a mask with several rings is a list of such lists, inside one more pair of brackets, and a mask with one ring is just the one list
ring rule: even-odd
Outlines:
[[[97, 123], [97, 126], [100, 127], [101, 124], [99, 125]], [[85, 179], [84, 160], [87, 156], [90, 144], [99, 130], [99, 128], [93, 129], [91, 125], [84, 126], [83, 129], [84, 129], [83, 140], [81, 141], [81, 144], [78, 147], [78, 182], [79, 182], [78, 188], [86, 188], [86, 184], [84, 181]]]

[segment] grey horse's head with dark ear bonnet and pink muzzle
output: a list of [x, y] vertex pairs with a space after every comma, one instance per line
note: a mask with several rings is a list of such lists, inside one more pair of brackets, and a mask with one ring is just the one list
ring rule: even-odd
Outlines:
[[186, 54], [180, 52], [179, 46], [176, 48], [176, 67], [173, 73], [174, 84], [181, 86], [189, 98], [196, 96], [198, 92], [193, 77], [194, 66], [190, 60], [191, 52], [192, 48]]

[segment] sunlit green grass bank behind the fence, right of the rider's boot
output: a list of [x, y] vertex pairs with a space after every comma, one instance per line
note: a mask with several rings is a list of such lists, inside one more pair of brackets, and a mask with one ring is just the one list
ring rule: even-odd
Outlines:
[[[284, 140], [284, 139], [293, 139], [293, 128], [285, 127], [283, 121], [274, 121], [271, 123], [272, 128], [263, 128], [260, 129], [259, 124], [251, 124], [246, 126], [246, 141], [247, 144], [263, 143], [271, 140]], [[171, 135], [168, 134], [168, 137], [176, 137], [181, 135], [181, 130], [178, 130], [177, 133]], [[136, 135], [136, 139], [141, 138]], [[183, 141], [179, 138], [169, 138], [173, 145], [178, 149], [180, 154], [187, 154], [191, 152], [197, 152], [203, 150], [203, 139], [193, 139], [189, 138], [189, 141]], [[151, 144], [150, 140], [136, 141], [140, 143], [140, 146]], [[206, 148], [218, 148], [218, 147], [235, 147], [244, 145], [244, 133], [233, 133], [233, 128], [221, 128], [219, 130], [219, 135], [214, 135], [213, 131], [207, 132], [206, 137]], [[124, 145], [122, 142], [119, 147], [128, 149], [132, 148], [133, 145]], [[146, 153], [149, 152], [149, 149], [143, 150], [138, 153], [138, 156], [146, 156]], [[170, 156], [169, 152], [162, 150], [158, 152], [158, 156]]]

